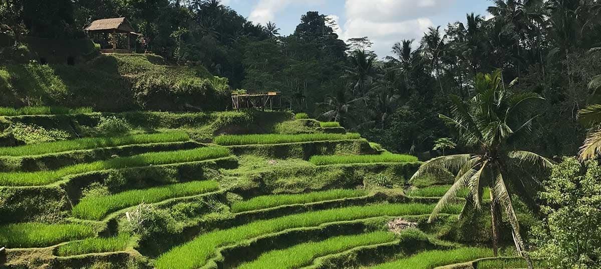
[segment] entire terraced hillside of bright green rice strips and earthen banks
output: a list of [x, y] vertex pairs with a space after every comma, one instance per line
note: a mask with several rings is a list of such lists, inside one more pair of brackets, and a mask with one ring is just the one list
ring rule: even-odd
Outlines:
[[[127, 131], [108, 136], [100, 127], [107, 118]], [[427, 222], [453, 178], [409, 183], [416, 157], [336, 124], [281, 112], [0, 122], [1, 141], [13, 144], [0, 148], [0, 267], [525, 266], [486, 259], [491, 250], [477, 234], [486, 220], [457, 221], [461, 198]], [[14, 125], [67, 138], [18, 145]]]

